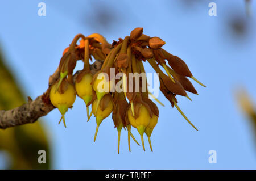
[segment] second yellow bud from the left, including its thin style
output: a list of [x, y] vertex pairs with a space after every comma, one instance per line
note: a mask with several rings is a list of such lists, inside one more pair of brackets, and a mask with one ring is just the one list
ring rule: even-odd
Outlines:
[[77, 95], [84, 100], [86, 104], [87, 118], [89, 118], [88, 104], [92, 100], [93, 88], [92, 88], [92, 74], [81, 71], [76, 78], [75, 88]]

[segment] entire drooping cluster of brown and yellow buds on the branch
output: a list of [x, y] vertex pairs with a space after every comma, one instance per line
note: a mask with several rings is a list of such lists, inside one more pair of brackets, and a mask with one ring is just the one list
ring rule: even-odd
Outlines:
[[[81, 39], [80, 44], [77, 45], [79, 39]], [[118, 153], [122, 128], [127, 129], [128, 132], [129, 151], [131, 151], [130, 137], [137, 142], [131, 133], [131, 126], [141, 135], [143, 150], [145, 150], [143, 134], [146, 133], [152, 151], [150, 137], [158, 122], [159, 110], [149, 98], [152, 94], [147, 89], [147, 79], [142, 77], [137, 79], [139, 86], [136, 91], [136, 87], [133, 87], [136, 78], [130, 78], [130, 73], [145, 73], [143, 62], [147, 61], [159, 75], [160, 91], [170, 101], [171, 106], [175, 106], [196, 129], [177, 106], [176, 96], [185, 96], [190, 99], [186, 91], [197, 94], [187, 77], [194, 79], [200, 85], [203, 84], [192, 76], [183, 60], [162, 48], [164, 44], [165, 42], [159, 37], [144, 35], [143, 28], [135, 28], [130, 36], [113, 41], [112, 44], [98, 33], [87, 37], [77, 35], [63, 52], [59, 64], [60, 78], [49, 88], [51, 103], [62, 115], [60, 122], [63, 120], [65, 125], [64, 114], [68, 108], [72, 107], [77, 95], [86, 104], [88, 121], [92, 114], [96, 117], [94, 142], [102, 120], [112, 113], [114, 127], [118, 132]], [[103, 62], [101, 69], [96, 73], [90, 70], [89, 60], [93, 60], [92, 57], [94, 60]], [[84, 62], [84, 69], [75, 76], [73, 69], [77, 60]], [[114, 75], [111, 73], [113, 69]], [[116, 77], [119, 77], [119, 81]], [[146, 89], [143, 87], [145, 83]], [[117, 85], [122, 88], [122, 91], [115, 91]], [[162, 104], [157, 98], [154, 99]], [[92, 105], [92, 111], [89, 114], [90, 105]]]

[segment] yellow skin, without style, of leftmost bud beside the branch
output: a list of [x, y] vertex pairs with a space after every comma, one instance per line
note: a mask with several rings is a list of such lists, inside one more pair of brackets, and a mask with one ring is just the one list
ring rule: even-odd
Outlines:
[[57, 83], [55, 83], [50, 91], [50, 100], [53, 106], [59, 108], [61, 114], [64, 114], [69, 107], [73, 105], [76, 100], [76, 91], [71, 83], [68, 83], [68, 88], [63, 94], [55, 90], [57, 88]]

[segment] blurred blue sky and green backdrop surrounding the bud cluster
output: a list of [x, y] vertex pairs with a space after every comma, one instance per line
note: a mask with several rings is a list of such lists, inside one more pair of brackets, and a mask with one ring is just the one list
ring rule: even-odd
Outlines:
[[[46, 16], [38, 16], [39, 2], [46, 3]], [[217, 16], [208, 15], [210, 2], [216, 2]], [[236, 98], [242, 87], [251, 102], [256, 100], [255, 11], [253, 0], [2, 1], [2, 109], [20, 106], [27, 96], [35, 99], [47, 89], [49, 75], [77, 33], [101, 33], [111, 43], [135, 27], [166, 41], [164, 49], [181, 57], [207, 88], [195, 83], [199, 96], [190, 94], [192, 102], [177, 98], [199, 132], [159, 95], [165, 107], [159, 105], [153, 153], [146, 136], [146, 152], [132, 141], [129, 153], [127, 131], [122, 131], [118, 155], [112, 116], [102, 122], [93, 143], [96, 121], [86, 123], [84, 102], [77, 98], [66, 114], [66, 129], [57, 124], [60, 113], [53, 110], [38, 125], [0, 131], [0, 169], [256, 169], [253, 121]], [[148, 64], [145, 68], [152, 71]], [[6, 78], [7, 71], [13, 78]], [[17, 91], [8, 97], [14, 87], [3, 85], [11, 81]], [[13, 100], [15, 95], [19, 98]], [[47, 150], [47, 165], [36, 164], [40, 149]], [[217, 151], [216, 164], [208, 162], [209, 150]]]

